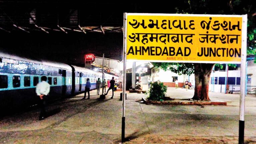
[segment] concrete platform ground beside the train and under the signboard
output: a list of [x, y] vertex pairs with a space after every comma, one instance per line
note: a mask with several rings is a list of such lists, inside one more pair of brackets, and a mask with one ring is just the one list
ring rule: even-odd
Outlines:
[[[144, 86], [146, 88], [146, 86]], [[192, 98], [193, 90], [168, 88], [172, 98]], [[47, 107], [49, 117], [39, 121], [32, 109], [0, 119], [0, 143], [111, 144], [120, 143], [122, 101], [120, 91], [110, 99], [90, 100], [83, 94]], [[209, 92], [211, 100], [227, 106], [145, 105], [145, 94], [127, 93], [125, 143], [238, 143], [239, 95]], [[136, 102], [137, 101], [137, 102]], [[245, 141], [256, 143], [256, 97], [246, 97]]]

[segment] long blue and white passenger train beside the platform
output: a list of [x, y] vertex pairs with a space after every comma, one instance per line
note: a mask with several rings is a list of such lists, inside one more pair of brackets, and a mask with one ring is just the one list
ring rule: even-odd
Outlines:
[[[113, 77], [110, 74], [104, 75], [105, 79]], [[90, 79], [91, 90], [96, 88], [98, 78], [102, 80], [101, 72], [0, 52], [0, 111], [36, 104], [38, 96], [35, 93], [35, 87], [42, 76], [46, 76], [51, 85], [50, 98], [83, 93], [87, 78]]]

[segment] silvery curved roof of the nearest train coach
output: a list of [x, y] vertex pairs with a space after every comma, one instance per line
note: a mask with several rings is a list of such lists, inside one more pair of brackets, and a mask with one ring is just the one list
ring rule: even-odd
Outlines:
[[25, 62], [31, 62], [31, 63], [37, 63], [37, 64], [42, 64], [42, 65], [48, 65], [48, 66], [53, 66], [53, 67], [58, 67], [58, 68], [64, 68], [64, 69], [69, 69], [72, 70], [72, 68], [64, 63], [59, 63], [59, 62], [52, 62], [48, 60], [33, 60], [33, 59], [28, 59], [24, 57], [20, 57], [14, 54], [8, 54], [4, 52], [0, 52], [0, 57], [1, 58], [8, 58], [8, 59], [13, 59], [13, 60], [20, 60], [20, 61], [25, 61]]

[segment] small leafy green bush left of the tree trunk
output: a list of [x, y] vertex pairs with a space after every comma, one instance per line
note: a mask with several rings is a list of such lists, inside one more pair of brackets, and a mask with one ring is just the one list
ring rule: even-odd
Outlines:
[[167, 92], [167, 86], [162, 82], [156, 81], [154, 83], [150, 82], [150, 88], [146, 94], [149, 94], [148, 100], [164, 100], [165, 94]]

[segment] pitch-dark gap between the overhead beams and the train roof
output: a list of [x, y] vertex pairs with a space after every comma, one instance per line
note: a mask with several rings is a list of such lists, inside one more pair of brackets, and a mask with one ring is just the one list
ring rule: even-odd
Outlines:
[[25, 56], [32, 59], [52, 61], [84, 66], [84, 55], [121, 61], [123, 50], [122, 33], [73, 33], [73, 34], [5, 34], [0, 41], [1, 51]]

